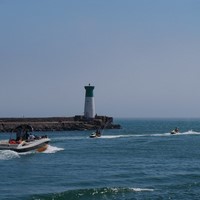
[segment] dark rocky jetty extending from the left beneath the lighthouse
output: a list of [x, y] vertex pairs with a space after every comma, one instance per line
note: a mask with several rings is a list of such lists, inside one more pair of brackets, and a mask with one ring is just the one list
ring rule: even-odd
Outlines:
[[86, 119], [84, 116], [74, 117], [45, 117], [45, 118], [0, 118], [0, 132], [12, 132], [21, 124], [28, 124], [34, 131], [74, 131], [106, 129], [120, 129], [119, 124], [113, 124], [113, 118], [107, 116], [95, 116], [94, 119]]

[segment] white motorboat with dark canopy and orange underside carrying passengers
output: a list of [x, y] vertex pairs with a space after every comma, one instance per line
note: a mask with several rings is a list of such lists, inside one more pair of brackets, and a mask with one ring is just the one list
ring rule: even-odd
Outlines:
[[[47, 136], [34, 136], [29, 134], [33, 129], [29, 125], [20, 125], [14, 129], [16, 132], [16, 139], [0, 141], [0, 150], [12, 150], [16, 152], [27, 151], [45, 151], [48, 147], [50, 139]], [[12, 135], [12, 134], [11, 134]]]

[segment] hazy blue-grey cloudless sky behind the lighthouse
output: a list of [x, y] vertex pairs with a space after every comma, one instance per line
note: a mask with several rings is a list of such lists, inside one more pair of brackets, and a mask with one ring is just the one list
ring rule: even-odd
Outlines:
[[200, 117], [199, 0], [0, 0], [0, 117]]

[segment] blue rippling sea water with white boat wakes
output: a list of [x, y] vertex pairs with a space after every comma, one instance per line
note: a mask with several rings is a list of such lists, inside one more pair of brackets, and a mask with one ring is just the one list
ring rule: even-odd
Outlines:
[[43, 153], [0, 151], [0, 199], [200, 199], [200, 119], [115, 123], [122, 129], [95, 139], [91, 131], [45, 132], [52, 141]]

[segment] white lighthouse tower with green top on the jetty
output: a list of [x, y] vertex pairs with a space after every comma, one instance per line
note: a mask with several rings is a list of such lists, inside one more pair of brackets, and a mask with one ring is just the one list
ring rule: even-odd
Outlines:
[[90, 84], [85, 86], [85, 107], [84, 107], [84, 117], [94, 118], [95, 117], [95, 106], [94, 106], [94, 86]]

